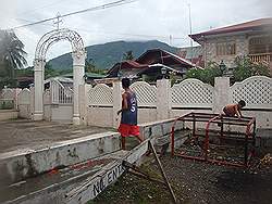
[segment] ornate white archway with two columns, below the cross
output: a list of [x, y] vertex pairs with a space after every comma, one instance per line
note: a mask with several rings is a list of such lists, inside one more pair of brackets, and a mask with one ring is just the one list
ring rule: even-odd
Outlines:
[[74, 31], [66, 28], [55, 29], [45, 34], [36, 48], [34, 60], [34, 120], [41, 120], [44, 118], [44, 79], [46, 53], [48, 49], [60, 40], [69, 40], [72, 46], [73, 58], [73, 90], [74, 90], [74, 106], [73, 106], [73, 124], [79, 125], [79, 104], [78, 104], [78, 87], [84, 84], [84, 66], [85, 66], [85, 49], [83, 39]]

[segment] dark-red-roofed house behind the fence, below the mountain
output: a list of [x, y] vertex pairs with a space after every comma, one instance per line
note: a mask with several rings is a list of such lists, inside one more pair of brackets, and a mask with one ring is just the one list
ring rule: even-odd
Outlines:
[[161, 49], [151, 49], [135, 61], [116, 63], [108, 72], [108, 78], [128, 77], [157, 80], [162, 78], [162, 69], [165, 69], [166, 76], [174, 74], [182, 78], [193, 67], [197, 66], [176, 54]]

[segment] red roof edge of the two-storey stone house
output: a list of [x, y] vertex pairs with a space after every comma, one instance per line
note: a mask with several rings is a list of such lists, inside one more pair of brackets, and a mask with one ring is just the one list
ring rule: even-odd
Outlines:
[[226, 34], [226, 33], [234, 33], [234, 31], [244, 31], [244, 30], [249, 30], [252, 28], [265, 27], [265, 26], [272, 26], [272, 17], [260, 18], [260, 20], [255, 20], [251, 22], [246, 22], [246, 23], [236, 24], [236, 25], [232, 25], [232, 26], [211, 29], [209, 31], [189, 35], [189, 37], [197, 41], [198, 38], [200, 38], [201, 36]]

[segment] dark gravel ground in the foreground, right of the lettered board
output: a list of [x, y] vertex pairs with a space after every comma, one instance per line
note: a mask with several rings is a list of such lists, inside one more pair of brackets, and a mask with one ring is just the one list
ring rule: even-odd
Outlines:
[[[152, 157], [152, 156], [151, 156]], [[165, 155], [161, 157], [178, 203], [271, 204], [272, 165], [245, 170]], [[153, 158], [141, 169], [154, 177], [160, 171]], [[125, 174], [90, 203], [172, 203], [162, 184]]]

